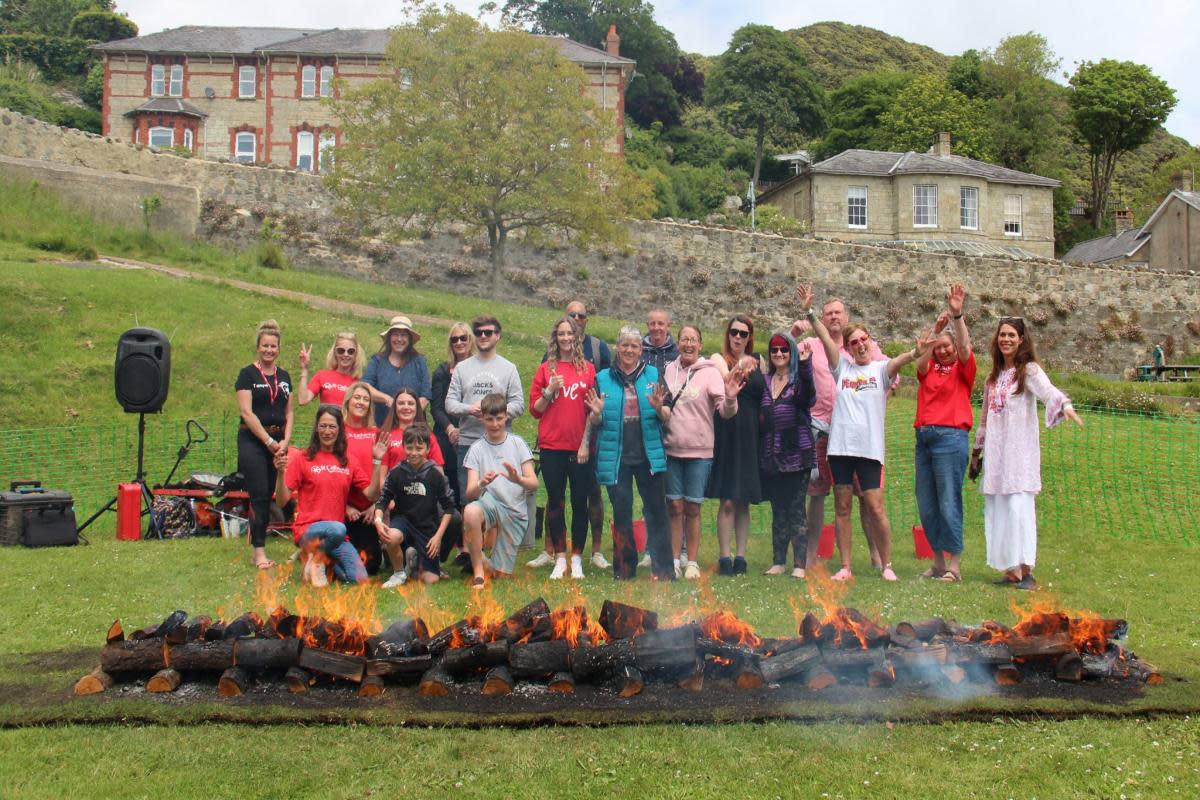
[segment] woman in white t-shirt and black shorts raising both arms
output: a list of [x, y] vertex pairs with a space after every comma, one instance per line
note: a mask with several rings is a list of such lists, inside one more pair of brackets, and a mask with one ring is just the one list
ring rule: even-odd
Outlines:
[[857, 477], [863, 491], [859, 503], [866, 510], [868, 523], [874, 522], [878, 534], [876, 545], [883, 564], [883, 579], [895, 581], [896, 573], [892, 570], [892, 525], [883, 509], [881, 483], [887, 395], [892, 379], [906, 363], [916, 361], [929, 349], [929, 341], [922, 337], [917, 347], [908, 353], [888, 361], [871, 361], [870, 333], [862, 325], [847, 325], [842, 338], [851, 359], [844, 359], [841, 349], [829, 337], [824, 323], [812, 312], [812, 287], [802, 285], [796, 294], [800, 299], [800, 309], [805, 312], [812, 330], [824, 345], [834, 380], [829, 468], [834, 480], [835, 527], [841, 570], [833, 576], [833, 579], [850, 581], [854, 577], [850, 569], [850, 512]]

